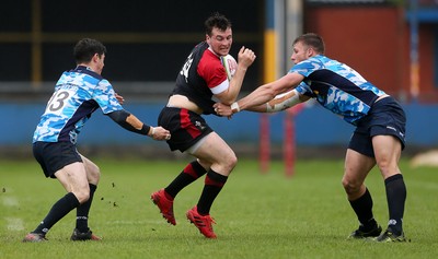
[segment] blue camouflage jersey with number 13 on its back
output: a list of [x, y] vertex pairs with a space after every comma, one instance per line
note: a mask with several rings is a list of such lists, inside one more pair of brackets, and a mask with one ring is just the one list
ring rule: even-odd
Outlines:
[[33, 142], [76, 143], [83, 125], [99, 107], [104, 114], [123, 109], [110, 82], [82, 66], [64, 72], [36, 127]]

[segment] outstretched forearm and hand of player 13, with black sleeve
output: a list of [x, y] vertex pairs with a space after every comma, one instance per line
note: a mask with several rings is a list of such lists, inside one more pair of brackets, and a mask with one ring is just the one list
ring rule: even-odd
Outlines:
[[123, 128], [138, 134], [149, 136], [154, 140], [170, 140], [171, 133], [162, 127], [152, 127], [145, 125], [135, 115], [122, 109], [107, 114], [115, 122]]

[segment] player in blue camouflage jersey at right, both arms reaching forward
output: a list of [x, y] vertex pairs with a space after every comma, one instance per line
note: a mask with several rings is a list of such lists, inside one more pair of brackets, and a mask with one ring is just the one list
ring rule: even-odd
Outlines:
[[[406, 118], [402, 107], [348, 66], [324, 56], [324, 42], [316, 34], [295, 39], [291, 60], [295, 66], [288, 74], [257, 87], [231, 106], [216, 104], [216, 111], [221, 116], [243, 109], [275, 113], [314, 98], [354, 125], [342, 184], [359, 227], [348, 237], [406, 242], [402, 226], [406, 187], [397, 165], [405, 145]], [[364, 184], [376, 164], [384, 179], [390, 217], [383, 233], [373, 217], [371, 195]]]

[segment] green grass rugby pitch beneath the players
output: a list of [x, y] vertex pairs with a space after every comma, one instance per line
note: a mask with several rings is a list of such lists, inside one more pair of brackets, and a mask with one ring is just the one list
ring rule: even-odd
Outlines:
[[[411, 243], [347, 240], [357, 227], [341, 185], [343, 161], [298, 161], [285, 177], [281, 162], [261, 174], [255, 161], [240, 161], [214, 203], [218, 239], [206, 239], [185, 219], [203, 180], [175, 200], [176, 226], [152, 204], [152, 191], [166, 186], [188, 161], [94, 160], [102, 179], [90, 226], [102, 242], [72, 243], [74, 213], [48, 233], [49, 242], [23, 244], [62, 187], [43, 176], [34, 161], [0, 161], [0, 258], [436, 258], [438, 172], [401, 168], [407, 186], [404, 229]], [[384, 185], [374, 169], [367, 179], [374, 216], [388, 221]]]

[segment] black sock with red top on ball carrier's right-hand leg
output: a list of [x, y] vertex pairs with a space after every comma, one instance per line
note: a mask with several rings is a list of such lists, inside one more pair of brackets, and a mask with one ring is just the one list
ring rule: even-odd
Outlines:
[[203, 193], [200, 195], [197, 209], [201, 215], [208, 215], [210, 208], [216, 197], [222, 190], [223, 185], [227, 183], [228, 177], [220, 175], [212, 169], [208, 170]]

